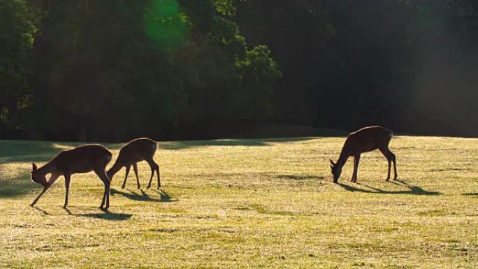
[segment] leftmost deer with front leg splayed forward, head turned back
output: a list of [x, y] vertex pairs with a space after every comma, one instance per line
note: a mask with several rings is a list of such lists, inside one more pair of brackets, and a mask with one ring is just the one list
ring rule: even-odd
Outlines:
[[[101, 145], [84, 145], [75, 147], [73, 150], [64, 150], [41, 168], [32, 163], [31, 180], [43, 185], [43, 190], [35, 198], [31, 206], [34, 206], [40, 197], [45, 194], [55, 181], [63, 175], [65, 177], [65, 204], [68, 205], [68, 190], [70, 189], [71, 175], [94, 171], [105, 185], [105, 192], [101, 200], [101, 210], [110, 207], [110, 179], [106, 175], [106, 166], [111, 161], [111, 152]], [[49, 180], [46, 175], [50, 174]], [[105, 206], [106, 203], [106, 206]], [[104, 208], [103, 208], [104, 207]]]

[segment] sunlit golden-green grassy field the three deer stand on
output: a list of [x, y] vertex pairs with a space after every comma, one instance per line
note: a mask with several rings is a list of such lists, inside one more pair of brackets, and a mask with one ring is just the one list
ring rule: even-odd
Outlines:
[[[31, 162], [78, 144], [0, 141], [0, 268], [477, 268], [478, 140], [399, 136], [386, 160], [352, 159], [333, 184], [344, 138], [159, 143], [164, 188], [124, 169], [103, 184], [73, 175], [38, 202]], [[117, 157], [120, 145], [106, 145]], [[113, 161], [110, 165], [113, 164]], [[156, 187], [154, 182], [154, 187]]]

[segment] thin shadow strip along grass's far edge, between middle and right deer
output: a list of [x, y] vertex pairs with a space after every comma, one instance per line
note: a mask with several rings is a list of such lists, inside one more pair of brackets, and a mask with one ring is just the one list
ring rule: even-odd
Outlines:
[[160, 142], [158, 147], [164, 150], [182, 150], [190, 147], [245, 146], [264, 147], [270, 143], [305, 141], [314, 138], [268, 138], [268, 139], [221, 139]]

